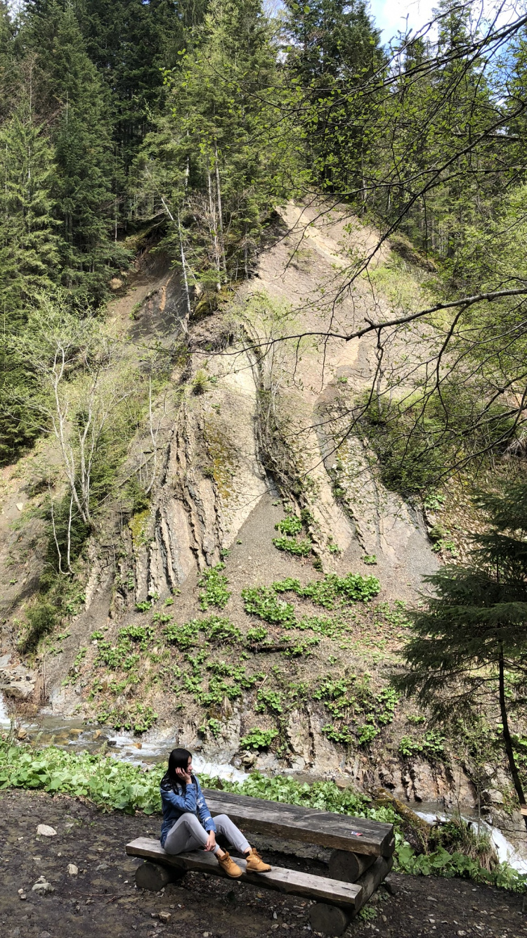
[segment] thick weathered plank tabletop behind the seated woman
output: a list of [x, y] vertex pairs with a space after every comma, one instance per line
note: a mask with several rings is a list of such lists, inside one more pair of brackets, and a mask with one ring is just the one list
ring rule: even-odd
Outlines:
[[394, 851], [394, 827], [381, 821], [211, 788], [203, 789], [203, 794], [213, 817], [228, 814], [234, 824], [246, 832], [316, 843], [354, 854], [391, 856]]

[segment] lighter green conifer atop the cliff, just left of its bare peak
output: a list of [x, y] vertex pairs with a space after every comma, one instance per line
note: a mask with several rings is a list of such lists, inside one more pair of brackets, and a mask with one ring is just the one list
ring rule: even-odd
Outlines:
[[218, 289], [248, 275], [265, 213], [292, 187], [289, 142], [277, 119], [277, 51], [259, 0], [214, 0], [196, 48], [167, 76], [167, 113], [145, 141], [143, 193], [176, 219], [199, 279]]

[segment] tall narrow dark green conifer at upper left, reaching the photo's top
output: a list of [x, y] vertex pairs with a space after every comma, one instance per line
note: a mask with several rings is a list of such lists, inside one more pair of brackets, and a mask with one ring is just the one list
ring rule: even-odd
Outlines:
[[109, 94], [90, 61], [71, 8], [50, 4], [32, 22], [42, 83], [55, 118], [54, 189], [64, 250], [62, 282], [80, 301], [98, 302], [125, 253], [115, 243], [120, 161]]

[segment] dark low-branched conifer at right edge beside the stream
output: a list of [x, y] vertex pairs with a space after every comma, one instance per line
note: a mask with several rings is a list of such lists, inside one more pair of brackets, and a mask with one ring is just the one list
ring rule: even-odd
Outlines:
[[[433, 590], [414, 613], [406, 644], [408, 673], [396, 686], [429, 706], [437, 720], [462, 718], [484, 705], [500, 714], [501, 735], [520, 806], [524, 745], [511, 724], [527, 692], [527, 484], [480, 495], [488, 529], [474, 536], [471, 563], [426, 578]], [[527, 826], [527, 815], [524, 816]]]

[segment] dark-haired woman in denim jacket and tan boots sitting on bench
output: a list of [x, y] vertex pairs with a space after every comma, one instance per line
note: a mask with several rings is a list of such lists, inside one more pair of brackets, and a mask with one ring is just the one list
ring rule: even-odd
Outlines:
[[210, 850], [227, 876], [237, 879], [243, 875], [243, 870], [218, 846], [218, 832], [247, 857], [248, 872], [266, 873], [271, 869], [226, 814], [219, 814], [212, 820], [200, 782], [192, 775], [192, 756], [188, 749], [172, 750], [160, 788], [163, 806], [160, 840], [167, 854], [184, 854], [199, 848]]

